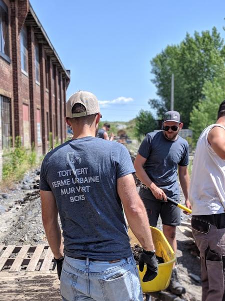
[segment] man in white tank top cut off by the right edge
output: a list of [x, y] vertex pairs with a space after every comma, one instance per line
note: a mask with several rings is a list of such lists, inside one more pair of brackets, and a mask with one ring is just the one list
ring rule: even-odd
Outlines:
[[202, 301], [225, 300], [225, 100], [197, 141], [190, 191], [191, 227], [200, 251]]

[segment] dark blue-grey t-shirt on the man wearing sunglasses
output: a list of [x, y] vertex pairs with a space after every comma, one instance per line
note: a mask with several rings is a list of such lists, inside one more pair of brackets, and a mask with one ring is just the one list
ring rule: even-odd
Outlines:
[[[169, 198], [178, 201], [177, 165], [188, 165], [187, 141], [180, 136], [171, 141], [165, 138], [163, 131], [151, 132], [144, 137], [138, 153], [147, 159], [143, 169], [150, 180]], [[147, 200], [156, 200], [149, 189], [140, 188], [139, 195], [146, 208]]]

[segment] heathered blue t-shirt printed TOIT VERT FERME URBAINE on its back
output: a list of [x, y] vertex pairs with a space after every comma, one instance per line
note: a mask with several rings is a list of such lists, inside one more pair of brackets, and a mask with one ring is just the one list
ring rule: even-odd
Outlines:
[[67, 256], [131, 255], [116, 180], [134, 172], [122, 144], [91, 136], [66, 141], [45, 156], [39, 187], [55, 197]]

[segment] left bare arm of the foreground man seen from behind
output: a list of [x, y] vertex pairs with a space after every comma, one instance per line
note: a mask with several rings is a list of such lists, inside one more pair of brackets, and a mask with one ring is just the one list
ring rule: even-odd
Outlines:
[[46, 233], [47, 241], [54, 258], [63, 256], [63, 244], [61, 231], [58, 224], [58, 210], [55, 198], [51, 191], [40, 190], [42, 222]]

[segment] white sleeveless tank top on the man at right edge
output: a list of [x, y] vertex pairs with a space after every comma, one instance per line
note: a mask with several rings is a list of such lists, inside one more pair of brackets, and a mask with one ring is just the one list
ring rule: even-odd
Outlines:
[[192, 215], [225, 212], [225, 160], [214, 152], [207, 140], [208, 132], [215, 126], [225, 130], [220, 124], [211, 124], [197, 141], [189, 189]]

